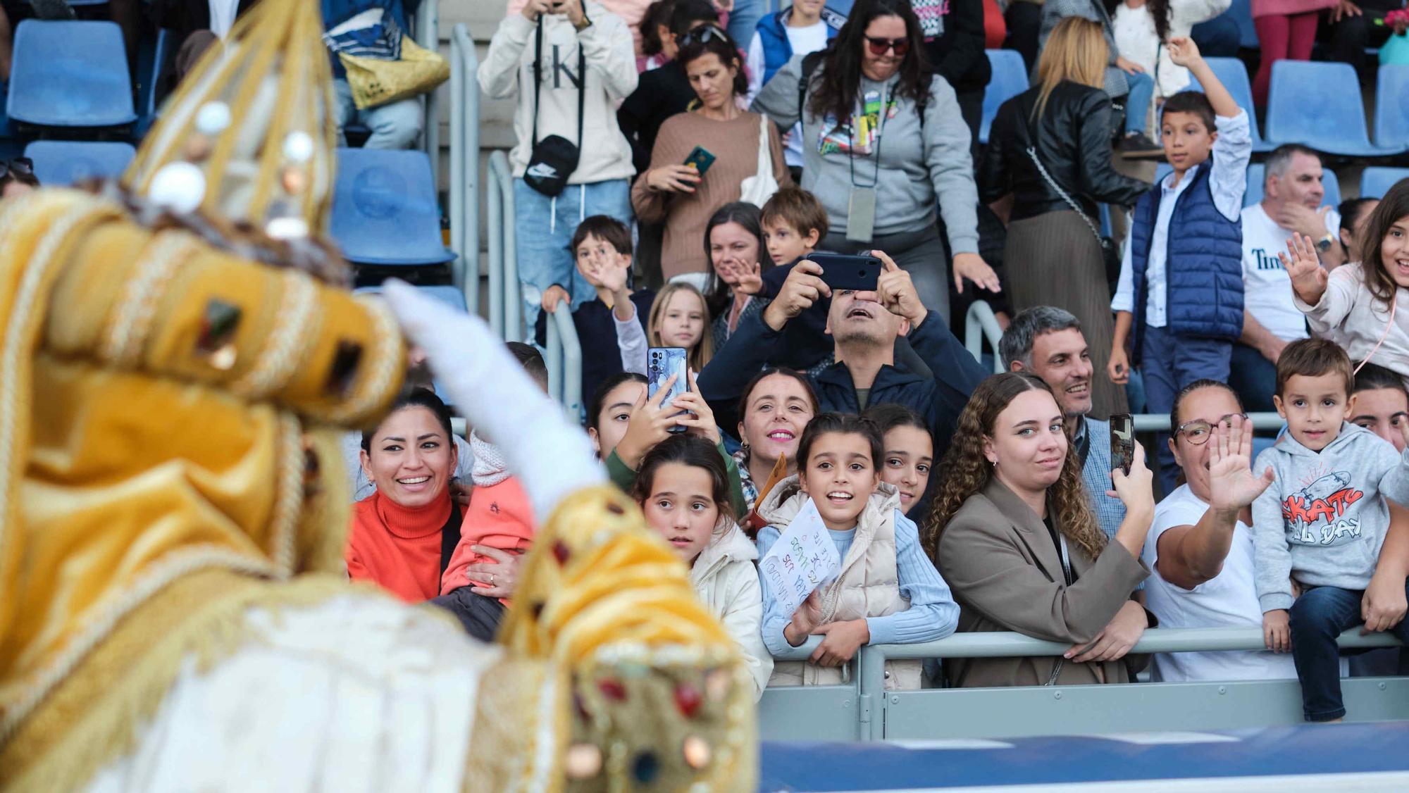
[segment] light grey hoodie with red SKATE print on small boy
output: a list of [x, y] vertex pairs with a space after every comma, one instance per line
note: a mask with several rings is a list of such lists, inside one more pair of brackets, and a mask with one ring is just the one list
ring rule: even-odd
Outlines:
[[1262, 611], [1292, 606], [1292, 576], [1306, 586], [1370, 586], [1389, 528], [1385, 499], [1409, 503], [1409, 454], [1343, 421], [1320, 452], [1285, 434], [1257, 455], [1253, 470], [1267, 466], [1277, 480], [1253, 503]]

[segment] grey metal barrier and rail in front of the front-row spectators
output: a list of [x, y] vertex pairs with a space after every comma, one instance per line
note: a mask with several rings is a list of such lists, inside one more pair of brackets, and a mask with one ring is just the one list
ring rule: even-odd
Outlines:
[[[778, 656], [802, 661], [821, 644]], [[1343, 632], [1344, 649], [1398, 647], [1389, 634]], [[769, 687], [759, 703], [764, 739], [943, 739], [1020, 735], [1234, 730], [1302, 723], [1301, 689], [1285, 680], [1210, 680], [1109, 686], [1014, 686], [988, 689], [886, 690], [885, 662], [926, 658], [1014, 658], [1061, 655], [1068, 645], [1014, 632], [955, 634], [912, 645], [867, 645], [852, 659], [855, 673], [841, 686]], [[1217, 652], [1264, 649], [1260, 628], [1154, 628], [1131, 652]], [[1347, 718], [1409, 718], [1409, 678], [1341, 680]], [[854, 735], [850, 737], [848, 735]]]

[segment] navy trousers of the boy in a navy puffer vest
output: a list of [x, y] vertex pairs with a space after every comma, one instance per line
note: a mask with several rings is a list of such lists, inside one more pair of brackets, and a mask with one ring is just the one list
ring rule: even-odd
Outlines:
[[[1172, 334], [1168, 328], [1144, 327], [1140, 345], [1140, 375], [1146, 386], [1146, 410], [1168, 414], [1174, 410], [1174, 397], [1179, 389], [1205, 377], [1226, 383], [1229, 380], [1229, 354], [1231, 342], [1216, 338], [1193, 338]], [[1169, 451], [1169, 434], [1160, 432], [1155, 439], [1160, 459], [1160, 487], [1172, 493], [1179, 477]]]

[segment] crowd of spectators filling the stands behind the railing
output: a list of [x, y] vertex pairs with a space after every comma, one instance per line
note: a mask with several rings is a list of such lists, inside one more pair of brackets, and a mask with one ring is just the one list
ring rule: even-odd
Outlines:
[[[182, 23], [206, 46], [247, 7], [216, 6]], [[414, 6], [324, 0], [330, 41], [369, 11], [406, 30]], [[514, 103], [526, 327], [541, 345], [545, 313], [571, 311], [585, 431], [759, 694], [837, 682], [865, 644], [1017, 631], [1069, 649], [937, 676], [892, 661], [886, 685], [1299, 678], [1324, 721], [1344, 716], [1334, 637], [1409, 635], [1409, 180], [1332, 207], [1320, 155], [1285, 145], [1244, 208], [1255, 120], [1205, 59], [1236, 51], [1227, 7], [510, 4], [478, 79]], [[1326, 52], [1365, 72], [1371, 11], [1255, 1], [1257, 103], [1323, 23]], [[1034, 77], [979, 145], [989, 21]], [[423, 132], [414, 99], [356, 110], [338, 90], [365, 145]], [[1136, 179], [1137, 158], [1172, 173]], [[27, 161], [0, 165], [4, 196], [35, 183]], [[1100, 204], [1130, 211], [1123, 239]], [[874, 256], [875, 287], [828, 286], [817, 252]], [[974, 292], [1002, 307], [1000, 375], [951, 331], [951, 299]], [[547, 389], [540, 348], [510, 346]], [[661, 346], [688, 359], [669, 404], [645, 377]], [[489, 639], [545, 516], [492, 439], [455, 435], [423, 362], [407, 380], [348, 439], [348, 572]], [[1107, 418], [1131, 380], [1169, 430], [1157, 465], [1137, 444], [1123, 469]], [[1255, 434], [1247, 413], [1272, 410], [1281, 437]], [[805, 508], [841, 569], [786, 613], [755, 565]], [[1133, 655], [1157, 625], [1258, 627], [1267, 649]], [[810, 637], [809, 661], [774, 661]]]

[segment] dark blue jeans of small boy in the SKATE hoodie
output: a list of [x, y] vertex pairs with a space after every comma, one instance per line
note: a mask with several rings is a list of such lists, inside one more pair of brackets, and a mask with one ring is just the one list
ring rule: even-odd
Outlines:
[[[1336, 647], [1336, 637], [1364, 623], [1360, 617], [1364, 596], [1364, 592], [1316, 586], [1303, 592], [1288, 610], [1292, 661], [1302, 683], [1302, 716], [1306, 721], [1330, 721], [1346, 716], [1346, 703], [1340, 697], [1340, 649]], [[1401, 621], [1386, 632], [1409, 642], [1409, 621]]]

